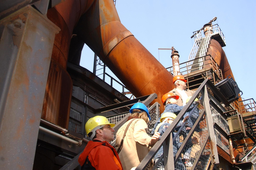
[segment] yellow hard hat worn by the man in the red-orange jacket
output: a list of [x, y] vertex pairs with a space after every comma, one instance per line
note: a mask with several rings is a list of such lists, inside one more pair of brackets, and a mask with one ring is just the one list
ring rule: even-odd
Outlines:
[[109, 123], [108, 119], [104, 116], [95, 116], [90, 118], [85, 124], [85, 131], [86, 133], [92, 132], [92, 135], [89, 136], [93, 138], [95, 136], [95, 131], [99, 128], [104, 127], [105, 125], [110, 125], [111, 128], [115, 126], [115, 124]]

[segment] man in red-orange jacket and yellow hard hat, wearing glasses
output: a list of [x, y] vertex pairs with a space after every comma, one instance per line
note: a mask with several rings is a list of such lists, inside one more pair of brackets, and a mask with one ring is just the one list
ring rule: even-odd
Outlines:
[[92, 141], [78, 158], [82, 170], [123, 170], [118, 153], [109, 144], [114, 140], [114, 126], [104, 116], [95, 116], [86, 122], [85, 130]]

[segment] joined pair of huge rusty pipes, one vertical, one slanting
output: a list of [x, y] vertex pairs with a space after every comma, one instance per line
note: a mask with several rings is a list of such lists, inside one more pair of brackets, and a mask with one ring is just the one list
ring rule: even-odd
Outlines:
[[[81, 5], [80, 5], [81, 4]], [[42, 118], [68, 127], [72, 80], [66, 71], [70, 41], [76, 34], [136, 96], [161, 96], [174, 87], [173, 76], [121, 24], [112, 0], [65, 1], [48, 10], [47, 17], [61, 28], [55, 37]], [[80, 56], [70, 57], [79, 64]], [[163, 111], [163, 108], [161, 108]]]

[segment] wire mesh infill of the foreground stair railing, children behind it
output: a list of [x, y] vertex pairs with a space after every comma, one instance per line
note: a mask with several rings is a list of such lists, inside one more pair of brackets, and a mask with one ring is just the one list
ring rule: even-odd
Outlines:
[[[210, 158], [210, 143], [209, 139], [204, 147], [203, 153], [199, 155], [199, 150], [202, 147], [202, 144], [207, 136], [208, 130], [206, 125], [206, 120], [204, 119], [205, 115], [203, 115], [202, 120], [200, 120], [197, 127], [195, 127], [195, 131], [192, 134], [192, 137], [188, 137], [188, 133], [190, 129], [194, 126], [196, 120], [198, 119], [199, 114], [201, 113], [201, 109], [195, 108], [191, 111], [190, 118], [187, 122], [183, 123], [183, 127], [179, 129], [177, 132], [173, 132], [173, 154], [174, 156], [181, 149], [181, 145], [184, 142], [187, 142], [185, 147], [181, 151], [180, 157], [176, 158], [177, 162], [174, 165], [175, 170], [184, 170], [190, 169], [191, 166], [196, 162], [196, 158], [199, 157], [197, 164], [195, 165], [195, 169], [205, 170], [209, 164]], [[155, 160], [155, 163], [157, 160]], [[164, 158], [158, 163], [157, 169], [164, 170]]]

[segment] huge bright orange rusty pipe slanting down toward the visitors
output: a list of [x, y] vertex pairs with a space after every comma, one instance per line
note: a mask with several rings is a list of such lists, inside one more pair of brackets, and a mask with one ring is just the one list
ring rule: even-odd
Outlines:
[[157, 93], [154, 102], [162, 103], [174, 88], [173, 76], [121, 24], [112, 0], [96, 0], [74, 32], [136, 97]]

